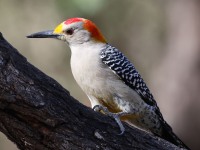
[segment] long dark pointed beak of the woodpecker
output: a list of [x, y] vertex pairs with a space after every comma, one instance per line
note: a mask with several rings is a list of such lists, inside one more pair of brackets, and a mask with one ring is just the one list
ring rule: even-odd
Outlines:
[[42, 31], [30, 34], [26, 36], [27, 38], [55, 38], [58, 39], [60, 34], [53, 33], [54, 30]]

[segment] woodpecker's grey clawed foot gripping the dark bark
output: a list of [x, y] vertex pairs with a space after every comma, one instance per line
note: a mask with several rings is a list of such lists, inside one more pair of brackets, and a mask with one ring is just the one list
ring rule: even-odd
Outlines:
[[111, 112], [108, 110], [107, 107], [104, 107], [104, 106], [101, 106], [101, 105], [95, 105], [95, 106], [93, 107], [93, 110], [94, 110], [94, 111], [98, 111], [98, 112], [103, 111], [106, 115], [108, 115], [108, 116], [114, 118], [115, 121], [117, 122], [119, 128], [120, 128], [120, 131], [121, 131], [121, 133], [119, 133], [119, 135], [124, 134], [125, 128], [124, 128], [124, 126], [123, 126], [123, 124], [122, 124], [122, 122], [121, 122], [121, 120], [120, 120], [120, 117], [123, 116], [123, 115], [127, 115], [127, 112], [111, 113]]

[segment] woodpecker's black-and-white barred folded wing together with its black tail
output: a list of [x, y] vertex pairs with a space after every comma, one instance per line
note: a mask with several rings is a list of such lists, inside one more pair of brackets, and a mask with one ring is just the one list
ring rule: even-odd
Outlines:
[[[135, 90], [146, 104], [155, 108], [163, 127], [162, 138], [179, 147], [188, 148], [172, 131], [163, 116], [146, 83], [135, 69], [134, 65], [117, 48], [107, 44], [100, 53], [102, 62], [106, 64], [126, 85]], [[189, 148], [188, 148], [189, 149]]]

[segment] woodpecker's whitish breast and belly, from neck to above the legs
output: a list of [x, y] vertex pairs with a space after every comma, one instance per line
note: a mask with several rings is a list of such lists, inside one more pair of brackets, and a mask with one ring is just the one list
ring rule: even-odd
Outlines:
[[94, 97], [104, 106], [116, 108], [117, 112], [129, 111], [133, 105], [140, 105], [140, 96], [102, 62], [100, 49], [74, 50], [71, 57], [72, 73], [88, 97]]

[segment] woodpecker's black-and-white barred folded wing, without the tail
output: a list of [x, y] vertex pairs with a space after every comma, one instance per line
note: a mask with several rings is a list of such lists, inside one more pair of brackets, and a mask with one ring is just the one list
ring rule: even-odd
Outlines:
[[134, 65], [115, 47], [107, 44], [100, 57], [108, 67], [130, 88], [135, 90], [149, 105], [155, 105], [155, 100], [144, 80]]

